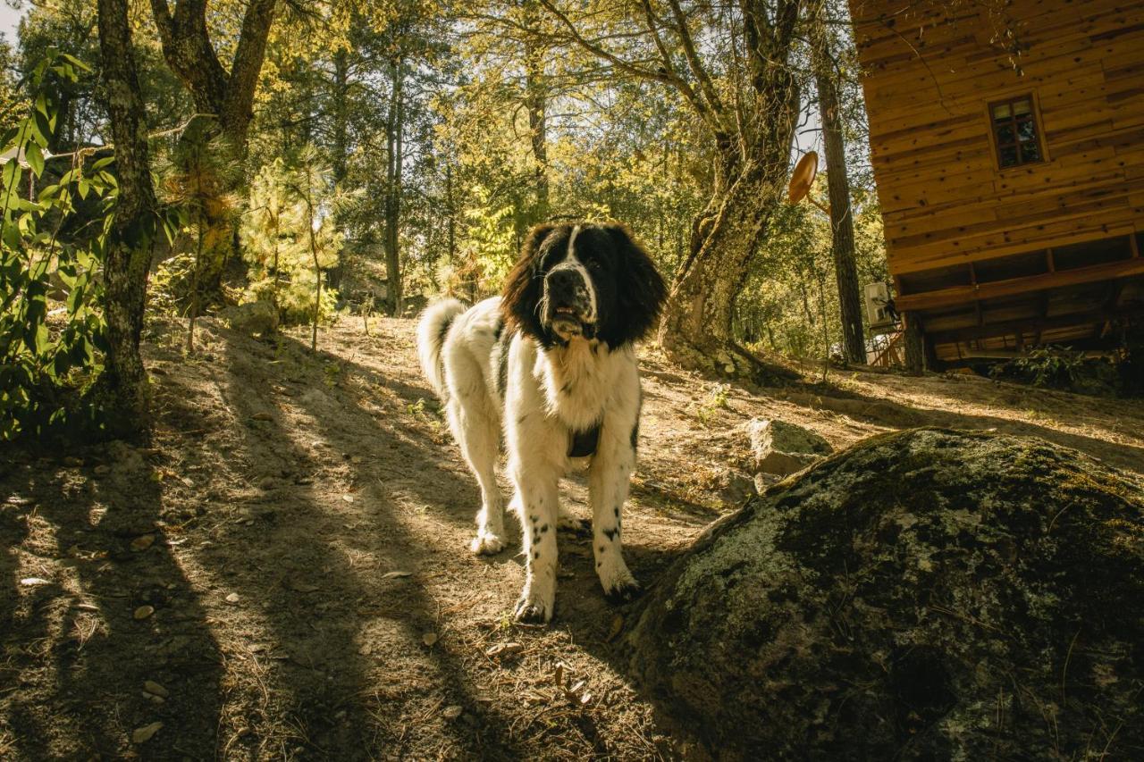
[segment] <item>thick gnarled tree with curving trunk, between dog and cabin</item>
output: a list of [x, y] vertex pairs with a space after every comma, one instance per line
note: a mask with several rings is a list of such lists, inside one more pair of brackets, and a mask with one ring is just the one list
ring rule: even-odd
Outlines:
[[[799, 113], [791, 55], [802, 0], [720, 7], [638, 0], [610, 6], [606, 16], [593, 7], [577, 17], [555, 0], [540, 2], [575, 43], [620, 72], [670, 86], [702, 124], [714, 184], [692, 223], [659, 339], [685, 366], [755, 375], [762, 364], [734, 342], [731, 322], [785, 186]], [[601, 27], [601, 17], [609, 27]]]

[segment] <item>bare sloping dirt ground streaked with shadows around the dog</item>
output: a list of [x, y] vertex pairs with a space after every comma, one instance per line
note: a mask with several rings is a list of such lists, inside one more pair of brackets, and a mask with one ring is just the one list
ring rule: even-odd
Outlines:
[[[181, 331], [148, 340], [145, 446], [0, 451], [0, 759], [686, 752], [623, 677], [626, 611], [603, 600], [585, 539], [561, 538], [553, 625], [510, 624], [522, 559], [467, 550], [478, 493], [420, 378], [412, 322], [344, 320], [317, 355], [302, 332], [267, 343], [206, 322], [186, 358]], [[837, 371], [720, 388], [643, 354], [625, 540], [645, 582], [733, 508], [721, 485], [746, 462], [739, 427], [754, 416], [836, 447], [889, 428], [993, 428], [1144, 473], [1139, 400]], [[587, 516], [582, 481], [566, 493]]]

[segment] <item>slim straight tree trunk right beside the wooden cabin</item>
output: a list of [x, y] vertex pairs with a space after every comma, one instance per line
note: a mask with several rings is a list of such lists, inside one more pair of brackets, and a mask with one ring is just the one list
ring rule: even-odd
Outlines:
[[836, 69], [832, 63], [823, 3], [812, 8], [811, 57], [818, 87], [818, 111], [823, 124], [826, 153], [826, 181], [831, 198], [831, 231], [834, 249], [834, 273], [839, 288], [839, 313], [842, 323], [842, 349], [850, 363], [866, 364], [866, 339], [858, 295], [858, 271], [855, 267], [855, 227], [850, 206], [850, 180], [847, 176], [845, 142], [842, 136], [842, 112], [839, 106]]

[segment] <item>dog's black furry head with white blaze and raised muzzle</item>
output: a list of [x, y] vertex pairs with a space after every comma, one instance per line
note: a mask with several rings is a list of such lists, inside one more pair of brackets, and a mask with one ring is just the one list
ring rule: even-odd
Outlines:
[[524, 241], [501, 310], [546, 348], [578, 336], [617, 348], [651, 331], [666, 293], [623, 225], [546, 223]]

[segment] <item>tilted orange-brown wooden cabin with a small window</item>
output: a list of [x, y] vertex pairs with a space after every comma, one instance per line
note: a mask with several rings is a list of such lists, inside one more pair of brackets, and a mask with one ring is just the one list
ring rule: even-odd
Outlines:
[[1139, 331], [1144, 2], [850, 10], [895, 304], [929, 363]]

